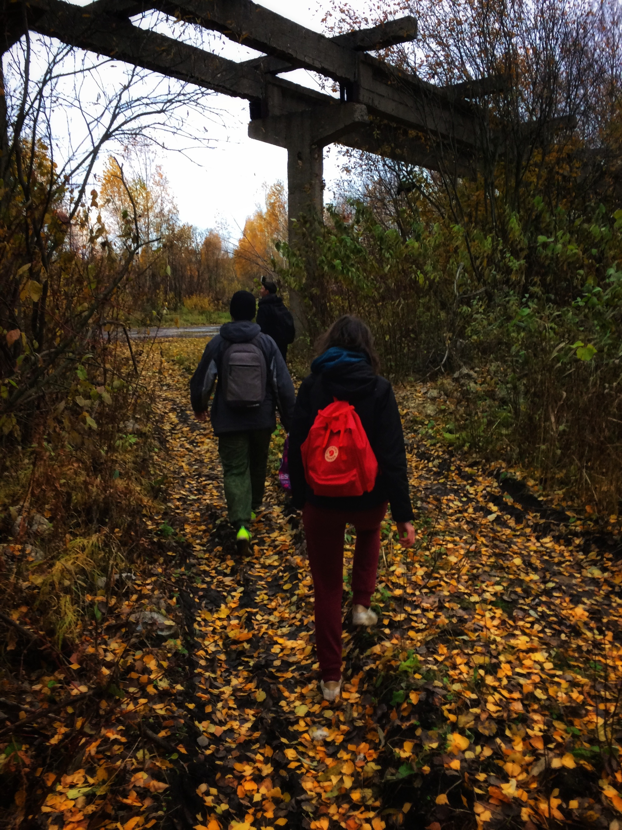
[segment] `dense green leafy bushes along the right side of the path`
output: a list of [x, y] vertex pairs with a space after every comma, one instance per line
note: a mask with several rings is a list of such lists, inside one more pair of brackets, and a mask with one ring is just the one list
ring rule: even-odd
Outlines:
[[281, 246], [312, 333], [361, 316], [387, 376], [444, 378], [446, 441], [533, 466], [616, 512], [622, 211], [551, 212], [536, 196], [528, 222], [508, 212], [498, 234], [423, 219], [403, 212], [399, 232], [352, 202], [328, 207], [297, 251]]

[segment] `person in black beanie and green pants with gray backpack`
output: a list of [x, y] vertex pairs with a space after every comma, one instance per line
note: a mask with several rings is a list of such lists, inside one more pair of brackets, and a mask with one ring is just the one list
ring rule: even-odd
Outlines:
[[207, 344], [190, 381], [190, 401], [198, 421], [207, 420], [218, 438], [229, 521], [236, 529], [238, 554], [250, 549], [250, 522], [264, 499], [270, 437], [276, 409], [286, 432], [294, 413], [294, 384], [275, 341], [262, 334], [255, 297], [236, 291], [231, 323]]

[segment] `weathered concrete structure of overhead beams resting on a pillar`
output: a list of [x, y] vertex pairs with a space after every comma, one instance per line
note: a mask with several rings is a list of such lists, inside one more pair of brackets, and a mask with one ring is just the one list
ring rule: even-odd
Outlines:
[[[265, 56], [236, 63], [157, 32], [130, 18], [158, 9], [177, 20], [221, 32]], [[289, 218], [321, 217], [322, 150], [348, 147], [438, 168], [464, 166], [478, 155], [483, 120], [474, 99], [500, 79], [452, 87], [430, 85], [367, 51], [414, 40], [414, 17], [324, 37], [251, 0], [3, 0], [6, 51], [26, 28], [73, 46], [127, 61], [250, 102], [251, 138], [288, 151]], [[338, 85], [339, 98], [279, 77], [304, 67]], [[469, 100], [470, 99], [470, 100]]]

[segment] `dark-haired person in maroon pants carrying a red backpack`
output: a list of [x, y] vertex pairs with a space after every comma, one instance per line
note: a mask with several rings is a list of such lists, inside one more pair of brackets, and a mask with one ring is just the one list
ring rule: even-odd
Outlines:
[[289, 432], [289, 481], [303, 511], [315, 593], [315, 642], [327, 701], [341, 689], [343, 537], [357, 534], [352, 568], [355, 625], [372, 626], [380, 525], [387, 503], [400, 542], [415, 542], [406, 448], [396, 398], [377, 374], [367, 325], [344, 315], [318, 342]]

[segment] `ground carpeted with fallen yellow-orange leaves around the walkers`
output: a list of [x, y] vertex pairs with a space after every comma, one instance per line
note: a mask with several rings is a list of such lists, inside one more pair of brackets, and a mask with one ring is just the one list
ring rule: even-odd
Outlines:
[[[519, 471], [453, 455], [440, 434], [451, 399], [399, 390], [418, 541], [401, 549], [387, 519], [374, 629], [350, 623], [347, 558], [345, 685], [329, 706], [304, 535], [275, 476], [283, 436], [240, 561], [216, 442], [189, 411], [201, 349], [164, 347], [154, 463], [167, 496], [145, 508], [140, 564], [89, 595], [70, 662], [48, 647], [49, 670], [5, 686], [13, 826], [615, 830], [615, 534]], [[31, 632], [36, 648], [26, 606], [12, 623], [18, 647]]]

